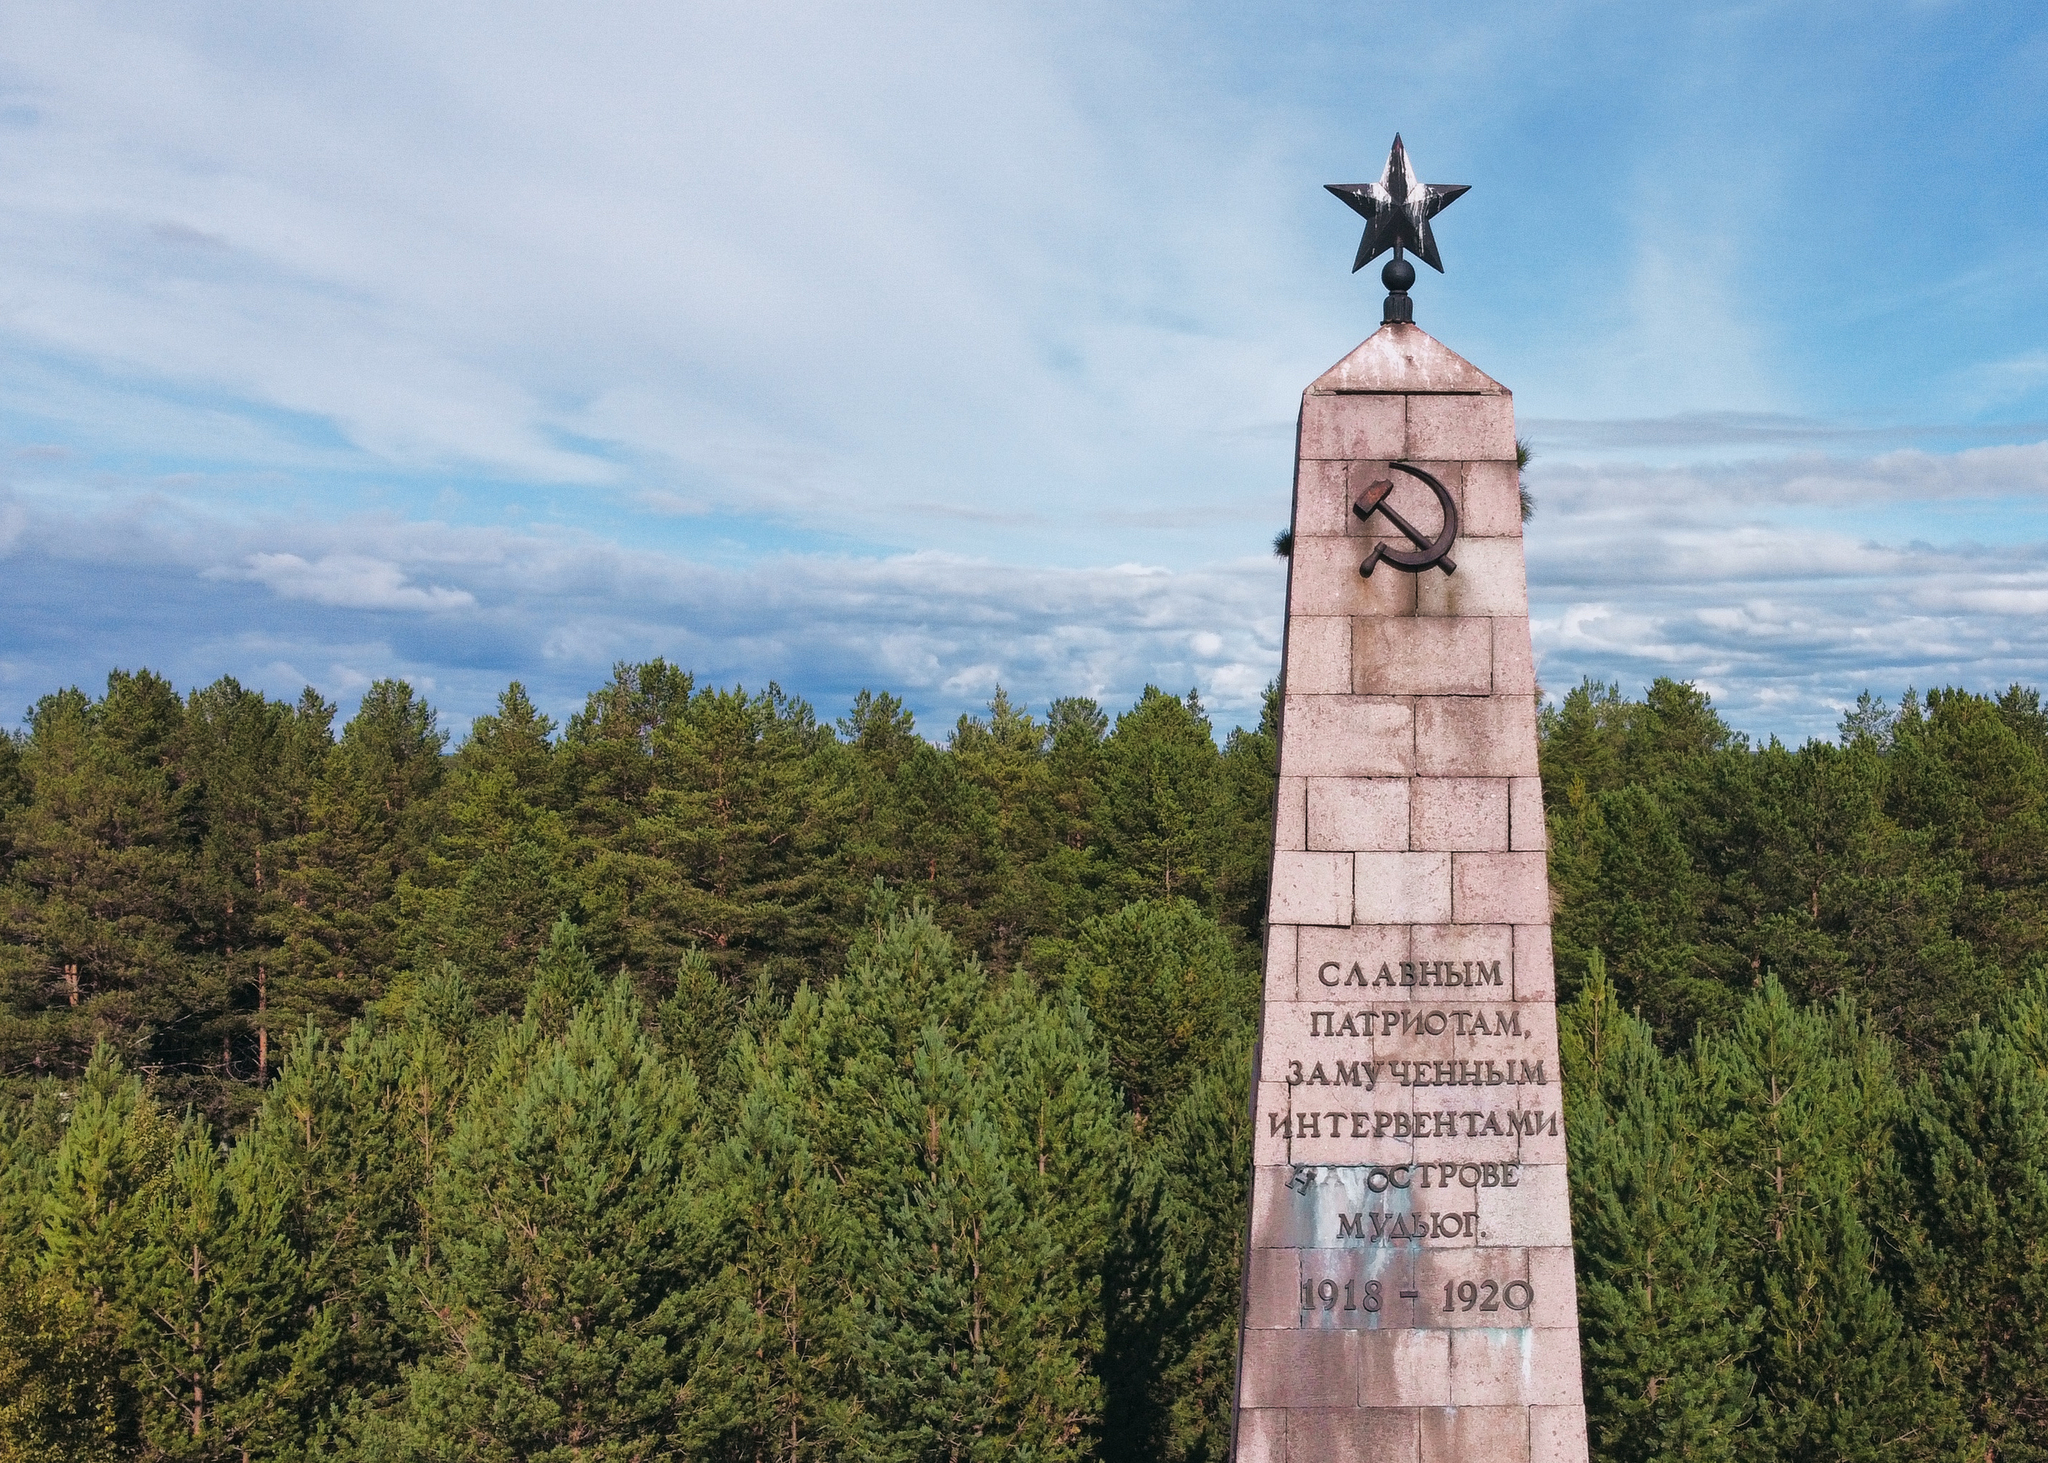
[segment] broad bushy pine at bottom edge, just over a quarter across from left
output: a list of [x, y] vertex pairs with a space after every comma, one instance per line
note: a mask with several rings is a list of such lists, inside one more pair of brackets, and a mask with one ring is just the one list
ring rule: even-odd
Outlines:
[[422, 1459], [643, 1459], [688, 1381], [705, 1236], [696, 1090], [625, 979], [506, 1033], [463, 1104], [408, 1266], [436, 1344], [397, 1436]]

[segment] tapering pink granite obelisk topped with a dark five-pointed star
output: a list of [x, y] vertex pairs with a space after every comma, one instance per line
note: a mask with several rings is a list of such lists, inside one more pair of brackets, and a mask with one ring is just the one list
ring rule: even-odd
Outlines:
[[1399, 137], [1303, 393], [1239, 1463], [1585, 1463], [1513, 398], [1415, 328]]

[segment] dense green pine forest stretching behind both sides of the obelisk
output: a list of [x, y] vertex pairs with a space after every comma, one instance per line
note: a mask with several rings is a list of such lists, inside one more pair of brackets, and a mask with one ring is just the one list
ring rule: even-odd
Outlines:
[[[1221, 1459], [1270, 719], [0, 738], [0, 1461]], [[1602, 1459], [2048, 1453], [2048, 717], [1544, 717]]]

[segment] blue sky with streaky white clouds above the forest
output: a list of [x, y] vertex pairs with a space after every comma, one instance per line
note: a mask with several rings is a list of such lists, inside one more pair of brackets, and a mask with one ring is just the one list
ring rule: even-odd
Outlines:
[[1538, 451], [1540, 674], [2048, 684], [2048, 12], [68, 4], [0, 18], [0, 713], [614, 660], [928, 734], [1255, 715], [1292, 418], [1417, 320]]

